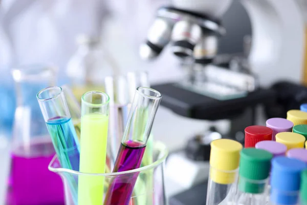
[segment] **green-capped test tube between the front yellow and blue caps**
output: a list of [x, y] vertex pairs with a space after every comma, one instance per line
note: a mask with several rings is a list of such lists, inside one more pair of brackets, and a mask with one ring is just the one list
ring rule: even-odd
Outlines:
[[270, 152], [255, 148], [240, 152], [236, 205], [266, 204], [272, 157]]

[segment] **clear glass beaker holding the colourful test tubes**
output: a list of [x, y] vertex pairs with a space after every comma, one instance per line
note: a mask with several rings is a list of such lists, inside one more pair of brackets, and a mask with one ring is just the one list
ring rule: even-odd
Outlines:
[[[115, 179], [126, 181], [127, 183], [131, 180], [131, 177], [138, 176], [136, 185], [133, 190], [133, 195], [130, 198], [131, 205], [145, 205], [150, 201], [152, 205], [168, 205], [168, 201], [165, 196], [165, 187], [164, 187], [164, 166], [165, 160], [168, 155], [168, 150], [164, 144], [161, 142], [155, 142], [153, 144], [153, 161], [150, 165], [141, 167], [139, 169], [117, 172], [117, 173], [106, 173], [106, 174], [87, 174], [81, 173], [69, 169], [61, 168], [60, 163], [55, 156], [49, 165], [49, 170], [59, 174], [62, 177], [64, 182], [65, 190], [65, 204], [66, 205], [77, 205], [74, 203], [74, 197], [71, 193], [76, 193], [78, 187], [69, 186], [71, 184], [78, 185], [78, 177], [83, 176], [82, 178], [88, 178], [89, 180], [96, 179], [101, 181], [104, 185], [104, 193], [101, 193], [101, 197], [105, 196], [105, 192], [108, 189], [109, 183]], [[148, 183], [148, 176], [150, 176], [149, 183], [152, 183], [153, 186], [150, 189], [146, 189]], [[71, 181], [74, 180], [74, 181]], [[71, 190], [75, 189], [75, 190]], [[90, 194], [90, 190], [86, 194]], [[89, 201], [88, 205], [101, 205], [95, 204]], [[121, 204], [113, 204], [121, 205]]]

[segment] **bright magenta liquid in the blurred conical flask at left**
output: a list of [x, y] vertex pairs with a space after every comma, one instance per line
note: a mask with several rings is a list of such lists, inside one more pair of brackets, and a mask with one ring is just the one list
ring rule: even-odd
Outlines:
[[30, 156], [20, 148], [12, 154], [9, 205], [62, 205], [63, 184], [60, 176], [48, 170], [55, 155], [51, 140], [30, 145]]

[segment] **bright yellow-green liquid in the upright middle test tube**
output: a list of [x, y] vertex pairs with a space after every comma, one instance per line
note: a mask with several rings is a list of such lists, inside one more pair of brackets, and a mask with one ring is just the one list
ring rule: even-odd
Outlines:
[[[105, 173], [108, 116], [98, 113], [81, 117], [80, 172]], [[78, 205], [103, 204], [104, 177], [79, 176]]]

